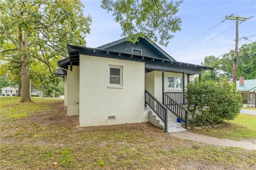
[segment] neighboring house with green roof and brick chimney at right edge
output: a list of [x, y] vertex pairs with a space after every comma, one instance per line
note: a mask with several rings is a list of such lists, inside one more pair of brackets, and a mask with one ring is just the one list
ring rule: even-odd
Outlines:
[[244, 97], [243, 107], [256, 107], [256, 79], [245, 80], [240, 77], [236, 81], [236, 89]]

